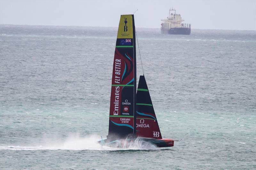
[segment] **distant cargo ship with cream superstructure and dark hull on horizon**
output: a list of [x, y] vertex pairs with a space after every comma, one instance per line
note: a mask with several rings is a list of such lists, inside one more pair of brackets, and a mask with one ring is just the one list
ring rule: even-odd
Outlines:
[[184, 20], [181, 19], [180, 14], [176, 14], [176, 10], [173, 8], [169, 10], [169, 17], [167, 19], [161, 19], [161, 21], [164, 22], [161, 24], [162, 34], [190, 35], [191, 33], [191, 24], [182, 23]]

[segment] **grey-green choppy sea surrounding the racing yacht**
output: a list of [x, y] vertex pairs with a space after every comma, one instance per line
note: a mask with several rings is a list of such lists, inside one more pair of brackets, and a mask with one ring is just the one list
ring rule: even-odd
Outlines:
[[[108, 134], [117, 27], [0, 26], [0, 169], [256, 169], [256, 32], [137, 28], [171, 148]], [[137, 44], [137, 76], [142, 74]]]

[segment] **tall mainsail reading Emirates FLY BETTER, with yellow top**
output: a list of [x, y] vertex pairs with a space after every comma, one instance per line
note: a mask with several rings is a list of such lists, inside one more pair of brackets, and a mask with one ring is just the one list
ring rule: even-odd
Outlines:
[[121, 15], [113, 64], [108, 139], [135, 134], [136, 44], [133, 15]]

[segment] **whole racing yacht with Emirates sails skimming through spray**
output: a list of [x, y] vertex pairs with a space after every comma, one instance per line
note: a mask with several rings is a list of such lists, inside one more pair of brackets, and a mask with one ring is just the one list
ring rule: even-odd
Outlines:
[[106, 139], [98, 141], [110, 147], [125, 147], [139, 141], [156, 147], [171, 147], [174, 140], [163, 139], [144, 74], [136, 79], [136, 41], [134, 15], [121, 15], [114, 55], [109, 129]]

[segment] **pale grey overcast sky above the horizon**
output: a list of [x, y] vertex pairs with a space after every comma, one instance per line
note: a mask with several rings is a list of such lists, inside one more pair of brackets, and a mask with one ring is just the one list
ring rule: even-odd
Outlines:
[[160, 28], [176, 9], [196, 29], [256, 30], [256, 0], [244, 1], [25, 1], [0, 0], [0, 24], [117, 27], [135, 13], [135, 26]]

